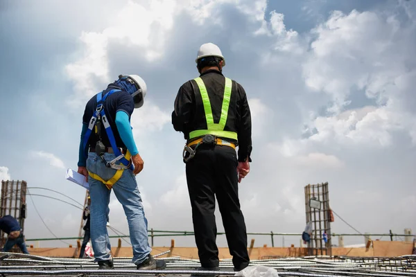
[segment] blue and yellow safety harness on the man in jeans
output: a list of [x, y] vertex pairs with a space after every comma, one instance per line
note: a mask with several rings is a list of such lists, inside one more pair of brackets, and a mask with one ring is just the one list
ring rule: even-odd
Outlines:
[[[105, 184], [105, 186], [107, 186], [107, 188], [109, 190], [111, 190], [112, 186], [116, 183], [116, 181], [118, 181], [121, 177], [121, 175], [123, 175], [123, 171], [125, 169], [130, 169], [133, 170], [133, 165], [130, 162], [130, 158], [131, 158], [131, 154], [130, 151], [127, 150], [127, 152], [125, 153], [125, 156], [121, 153], [120, 149], [117, 148], [116, 145], [116, 139], [114, 139], [114, 134], [112, 132], [112, 129], [110, 127], [110, 123], [108, 123], [107, 120], [107, 116], [105, 116], [105, 110], [104, 110], [104, 102], [107, 99], [108, 96], [110, 96], [112, 93], [115, 93], [116, 91], [121, 91], [120, 89], [112, 89], [110, 91], [108, 91], [104, 96], [103, 96], [103, 91], [101, 91], [100, 93], [98, 93], [96, 95], [96, 99], [97, 99], [97, 107], [96, 107], [96, 111], [95, 113], [92, 115], [91, 120], [89, 120], [89, 125], [88, 125], [88, 129], [87, 132], [85, 132], [85, 136], [83, 139], [84, 142], [84, 150], [87, 148], [87, 143], [89, 140], [89, 136], [91, 136], [92, 130], [94, 129], [95, 134], [98, 134], [98, 142], [96, 143], [96, 154], [98, 154], [98, 156], [101, 157], [101, 159], [103, 160], [103, 162], [105, 163], [105, 166], [107, 166], [107, 168], [113, 168], [116, 169], [116, 173], [113, 175], [113, 177], [111, 177], [108, 181], [103, 180], [100, 176], [96, 175], [95, 173], [92, 173], [90, 171], [88, 171], [88, 175], [90, 177], [92, 177], [93, 179], [96, 179], [98, 181], [103, 182], [103, 184]], [[103, 144], [102, 140], [101, 140], [101, 124], [99, 123], [103, 123], [104, 127], [105, 127], [105, 132], [107, 133], [107, 137], [108, 140], [110, 141], [110, 145], [112, 147], [112, 150], [114, 152], [114, 154], [116, 155], [116, 158], [113, 159], [112, 161], [105, 161], [104, 159], [104, 153], [105, 153], [105, 145]], [[117, 164], [116, 162], [120, 161], [121, 164]]]

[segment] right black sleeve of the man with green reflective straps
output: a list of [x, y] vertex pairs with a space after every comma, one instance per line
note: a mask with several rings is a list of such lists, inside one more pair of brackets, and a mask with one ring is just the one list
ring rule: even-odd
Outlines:
[[239, 131], [237, 132], [239, 139], [239, 161], [245, 161], [248, 157], [248, 161], [252, 161], [250, 158], [252, 152], [252, 124], [251, 124], [251, 112], [248, 105], [247, 95], [241, 84], [237, 84], [240, 99], [240, 114], [241, 121]]

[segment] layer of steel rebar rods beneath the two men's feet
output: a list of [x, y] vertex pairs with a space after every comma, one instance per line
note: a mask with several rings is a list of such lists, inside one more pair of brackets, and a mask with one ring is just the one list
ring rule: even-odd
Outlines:
[[[42, 258], [18, 253], [0, 252], [0, 276], [234, 276], [232, 261], [220, 261], [219, 271], [201, 271], [199, 260], [180, 257], [157, 258], [166, 262], [166, 269], [137, 270], [131, 258], [114, 258], [114, 269], [98, 270], [93, 259]], [[279, 276], [334, 277], [416, 277], [416, 256], [380, 257], [306, 257], [252, 260], [250, 267], [270, 267]]]

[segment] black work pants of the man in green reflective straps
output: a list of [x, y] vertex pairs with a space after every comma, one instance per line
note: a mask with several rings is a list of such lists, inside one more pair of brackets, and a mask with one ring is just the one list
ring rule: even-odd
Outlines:
[[195, 157], [187, 163], [193, 230], [202, 267], [218, 267], [219, 264], [214, 195], [235, 269], [244, 269], [250, 262], [240, 209], [237, 165], [236, 150], [225, 145], [200, 145]]

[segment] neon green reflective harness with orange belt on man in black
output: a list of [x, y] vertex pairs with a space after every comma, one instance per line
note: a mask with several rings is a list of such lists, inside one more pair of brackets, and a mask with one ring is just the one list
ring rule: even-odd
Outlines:
[[[212, 115], [211, 102], [209, 102], [209, 96], [207, 93], [207, 88], [205, 87], [204, 81], [198, 77], [193, 79], [198, 84], [199, 91], [202, 97], [202, 104], [204, 105], [205, 118], [207, 119], [207, 129], [198, 129], [189, 133], [189, 139], [195, 139], [202, 136], [199, 139], [191, 141], [184, 147], [183, 159], [184, 163], [187, 163], [192, 159], [195, 154], [198, 146], [200, 144], [205, 145], [227, 145], [236, 149], [236, 145], [229, 141], [219, 139], [218, 136], [237, 140], [237, 133], [224, 131], [225, 124], [227, 123], [228, 109], [229, 109], [229, 100], [231, 99], [232, 91], [232, 80], [225, 77], [225, 87], [224, 87], [224, 97], [223, 97], [223, 106], [221, 108], [221, 117], [219, 123], [214, 123], [214, 116]], [[191, 145], [196, 145], [194, 149], [191, 148]], [[187, 152], [189, 156], [186, 157]]]

